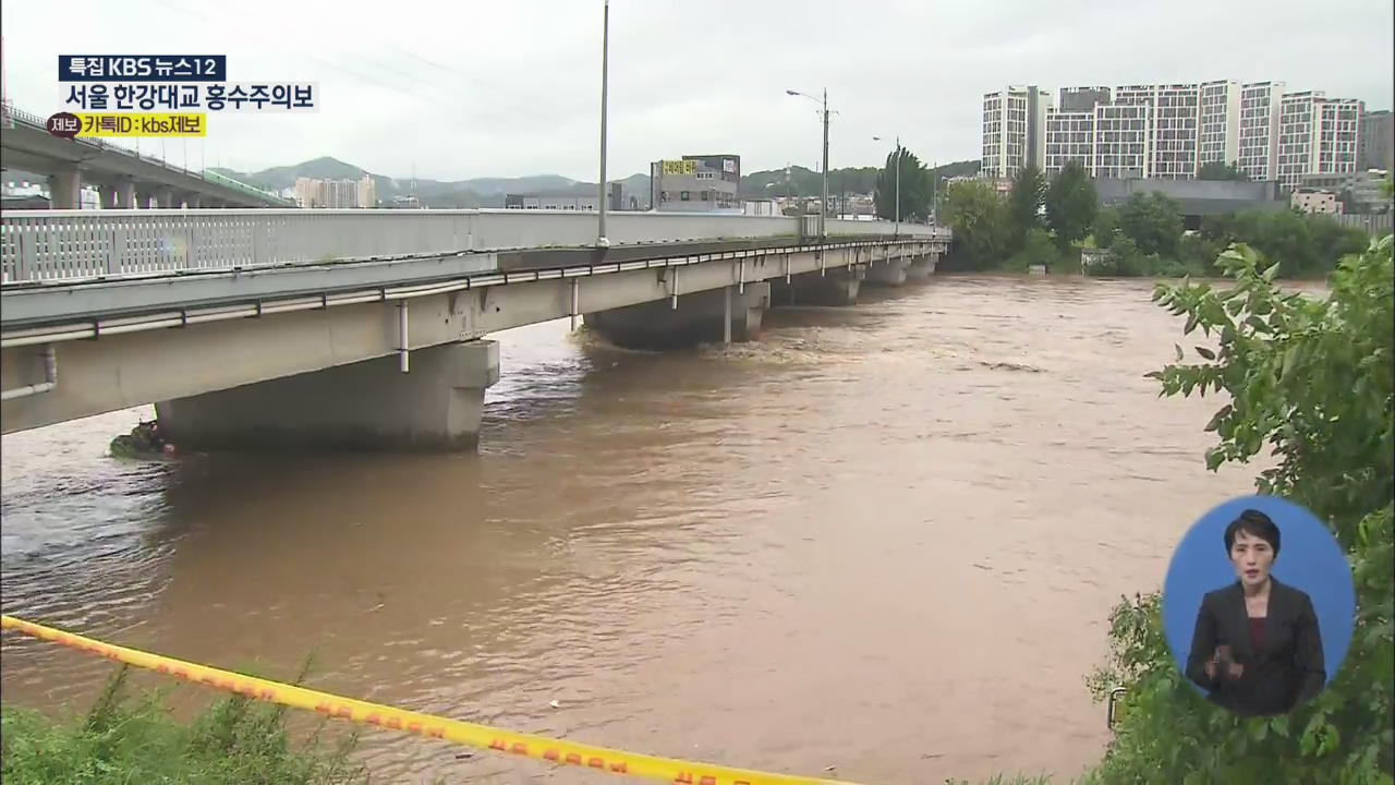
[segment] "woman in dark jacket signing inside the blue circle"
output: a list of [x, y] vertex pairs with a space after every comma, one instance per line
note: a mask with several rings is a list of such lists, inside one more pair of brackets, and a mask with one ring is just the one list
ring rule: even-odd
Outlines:
[[1279, 529], [1264, 513], [1232, 521], [1225, 549], [1237, 580], [1202, 598], [1187, 677], [1236, 714], [1288, 714], [1327, 682], [1313, 601], [1269, 574]]

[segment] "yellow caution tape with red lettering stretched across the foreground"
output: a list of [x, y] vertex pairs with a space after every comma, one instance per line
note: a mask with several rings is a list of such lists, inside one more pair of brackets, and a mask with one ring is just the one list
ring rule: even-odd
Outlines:
[[176, 679], [261, 701], [303, 708], [325, 717], [361, 722], [377, 728], [405, 731], [425, 736], [427, 739], [442, 739], [467, 747], [544, 760], [559, 765], [580, 765], [610, 774], [664, 779], [684, 785], [848, 785], [843, 781], [834, 782], [831, 779], [790, 774], [748, 771], [710, 763], [692, 763], [607, 747], [593, 747], [590, 744], [578, 744], [575, 742], [548, 739], [531, 733], [516, 733], [513, 731], [504, 731], [502, 728], [446, 719], [416, 711], [403, 711], [400, 708], [346, 698], [318, 690], [307, 690], [306, 687], [296, 687], [255, 676], [244, 676], [232, 670], [184, 662], [159, 654], [106, 644], [15, 619], [14, 616], [0, 616], [0, 629], [20, 630], [36, 638], [96, 654], [116, 662], [145, 668], [156, 673], [165, 673]]

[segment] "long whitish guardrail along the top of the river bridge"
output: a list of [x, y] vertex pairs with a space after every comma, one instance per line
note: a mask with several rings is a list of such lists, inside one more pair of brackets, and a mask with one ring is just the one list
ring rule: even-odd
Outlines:
[[[799, 218], [615, 212], [612, 244], [799, 236]], [[830, 221], [829, 236], [891, 235], [887, 221]], [[901, 223], [900, 236], [950, 230]], [[4, 284], [324, 264], [596, 244], [594, 212], [522, 210], [14, 210], [3, 215]]]

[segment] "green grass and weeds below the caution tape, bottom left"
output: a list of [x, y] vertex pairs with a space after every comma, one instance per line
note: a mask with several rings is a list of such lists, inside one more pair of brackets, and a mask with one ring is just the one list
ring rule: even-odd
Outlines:
[[357, 731], [328, 738], [328, 719], [319, 718], [296, 743], [286, 707], [241, 696], [216, 700], [180, 722], [166, 707], [170, 693], [133, 696], [123, 666], [85, 715], [56, 722], [36, 711], [0, 707], [0, 779], [6, 785], [367, 782], [363, 767], [349, 760]]

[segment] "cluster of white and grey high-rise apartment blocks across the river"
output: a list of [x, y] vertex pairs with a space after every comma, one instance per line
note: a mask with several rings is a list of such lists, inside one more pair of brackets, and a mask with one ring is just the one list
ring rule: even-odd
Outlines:
[[[1011, 177], [1031, 161], [1052, 176], [1077, 159], [1096, 177], [1189, 180], [1207, 163], [1235, 163], [1251, 180], [1292, 189], [1303, 175], [1355, 172], [1381, 149], [1381, 161], [1391, 158], [1389, 113], [1377, 120], [1359, 101], [1283, 88], [1230, 80], [1063, 88], [1060, 108], [1045, 110], [1043, 99], [1030, 101], [1046, 95], [1035, 87], [992, 92], [983, 96], [983, 175]], [[1364, 117], [1384, 127], [1363, 133]]]

